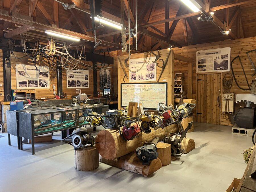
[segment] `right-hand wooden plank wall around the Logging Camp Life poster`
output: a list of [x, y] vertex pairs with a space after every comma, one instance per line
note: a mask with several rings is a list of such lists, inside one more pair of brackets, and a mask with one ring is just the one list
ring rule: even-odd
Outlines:
[[[237, 39], [237, 40], [226, 40], [221, 42], [213, 42], [213, 43], [207, 43], [207, 44], [199, 44], [199, 45], [192, 45], [192, 46], [184, 46], [182, 48], [173, 48], [176, 54], [189, 57], [193, 59], [193, 99], [196, 99], [196, 52], [199, 50], [205, 50], [205, 49], [216, 49], [216, 48], [224, 48], [224, 47], [230, 47], [231, 48], [231, 60], [236, 57], [237, 55], [240, 55], [241, 61], [243, 63], [243, 67], [245, 70], [245, 73], [247, 75], [249, 84], [251, 85], [251, 80], [255, 79], [255, 76], [252, 77], [254, 70], [252, 70], [252, 65], [246, 55], [245, 52], [250, 51], [252, 49], [256, 49], [256, 37], [250, 37], [250, 38], [243, 38], [243, 39]], [[256, 54], [253, 53], [252, 57], [253, 61], [256, 63]], [[185, 65], [185, 64], [184, 64]], [[182, 66], [179, 66], [182, 67]], [[236, 79], [238, 80], [238, 83], [241, 87], [246, 87], [246, 81], [243, 76], [243, 72], [241, 69], [240, 64], [236, 61], [233, 65], [234, 73], [236, 76]], [[227, 72], [223, 72], [223, 76]], [[229, 73], [229, 72], [228, 72]], [[230, 71], [231, 73], [231, 71]], [[221, 78], [221, 79], [222, 79]], [[222, 90], [223, 92], [223, 90]], [[230, 92], [234, 92], [234, 94], [249, 94], [249, 90], [241, 90], [236, 86], [236, 83], [233, 80], [232, 88]], [[198, 96], [200, 97], [200, 96]], [[200, 104], [200, 103], [198, 103]], [[221, 125], [231, 125], [230, 121], [228, 120], [228, 117], [226, 115], [223, 115], [221, 112], [220, 117], [220, 123]]]

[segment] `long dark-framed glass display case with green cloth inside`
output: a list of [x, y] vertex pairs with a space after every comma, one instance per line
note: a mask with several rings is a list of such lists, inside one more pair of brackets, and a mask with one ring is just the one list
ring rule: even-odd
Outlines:
[[[34, 154], [34, 136], [53, 133], [57, 131], [66, 131], [74, 129], [77, 126], [86, 126], [90, 123], [86, 121], [87, 109], [106, 113], [108, 105], [77, 105], [65, 106], [61, 108], [40, 109], [40, 110], [21, 110], [14, 113], [10, 111], [10, 134], [19, 137], [20, 149], [22, 150], [22, 137], [30, 139], [32, 143], [32, 154]], [[17, 116], [18, 115], [18, 116]], [[16, 121], [15, 121], [16, 118]], [[16, 122], [16, 123], [13, 123]], [[16, 130], [15, 130], [16, 125]], [[7, 129], [8, 130], [8, 129]], [[66, 133], [66, 132], [64, 132]], [[66, 134], [64, 135], [64, 137]]]

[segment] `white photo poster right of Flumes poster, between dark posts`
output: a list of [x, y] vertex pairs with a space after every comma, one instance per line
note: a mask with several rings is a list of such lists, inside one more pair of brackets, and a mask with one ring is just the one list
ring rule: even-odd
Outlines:
[[67, 88], [89, 88], [89, 71], [67, 70]]

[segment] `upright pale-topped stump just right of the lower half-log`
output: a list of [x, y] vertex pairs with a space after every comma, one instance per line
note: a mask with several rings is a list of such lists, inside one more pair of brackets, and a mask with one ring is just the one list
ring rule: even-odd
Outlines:
[[171, 164], [171, 144], [158, 142], [156, 144], [158, 158], [160, 159], [162, 166]]

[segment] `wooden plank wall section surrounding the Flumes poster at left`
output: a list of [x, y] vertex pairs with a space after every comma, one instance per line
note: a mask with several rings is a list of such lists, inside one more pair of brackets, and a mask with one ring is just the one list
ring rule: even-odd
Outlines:
[[[14, 52], [16, 57], [23, 57], [24, 54], [20, 52]], [[2, 57], [1, 57], [2, 58]], [[26, 59], [16, 59], [15, 57], [11, 56], [11, 86], [12, 89], [20, 89], [16, 87], [16, 63], [25, 64], [25, 65], [33, 65], [32, 60], [26, 58]], [[48, 61], [46, 59], [40, 57], [40, 60], [37, 62], [37, 65], [44, 65], [49, 66]], [[53, 99], [53, 89], [52, 85], [55, 84], [56, 90], [57, 90], [57, 75], [56, 70], [50, 69], [50, 87], [49, 89], [35, 89], [36, 90], [36, 98], [47, 98], [47, 99]], [[33, 88], [32, 88], [33, 89]]]

